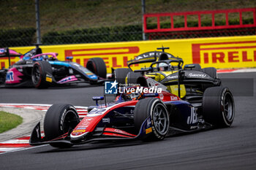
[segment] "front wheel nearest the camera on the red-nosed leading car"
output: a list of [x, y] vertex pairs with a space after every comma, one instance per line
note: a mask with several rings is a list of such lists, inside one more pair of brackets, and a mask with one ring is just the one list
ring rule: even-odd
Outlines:
[[139, 131], [143, 122], [151, 118], [151, 127], [146, 134], [144, 141], [165, 139], [168, 134], [170, 120], [165, 104], [159, 98], [144, 98], [135, 106], [134, 123]]

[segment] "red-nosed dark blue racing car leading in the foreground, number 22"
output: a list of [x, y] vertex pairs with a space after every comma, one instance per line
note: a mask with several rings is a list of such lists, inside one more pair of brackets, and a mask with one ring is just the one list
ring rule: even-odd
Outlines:
[[98, 104], [104, 97], [94, 97], [97, 106], [89, 107], [82, 120], [72, 105], [53, 104], [45, 115], [45, 136], [41, 136], [38, 123], [30, 144], [64, 148], [106, 140], [162, 140], [178, 132], [233, 123], [234, 101], [228, 88], [207, 88], [202, 101], [189, 103], [149, 77], [140, 77], [140, 81], [145, 87], [119, 88], [113, 103]]

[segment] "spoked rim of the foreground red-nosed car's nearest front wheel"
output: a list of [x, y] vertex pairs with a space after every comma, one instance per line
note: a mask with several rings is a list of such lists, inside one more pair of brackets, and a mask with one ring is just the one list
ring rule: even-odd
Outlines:
[[157, 132], [161, 135], [165, 135], [168, 129], [168, 115], [165, 107], [162, 104], [157, 104], [153, 112], [154, 125]]

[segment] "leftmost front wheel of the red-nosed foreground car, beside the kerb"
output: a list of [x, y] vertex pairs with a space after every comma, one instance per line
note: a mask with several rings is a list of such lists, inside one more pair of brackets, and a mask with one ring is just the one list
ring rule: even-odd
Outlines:
[[[78, 112], [70, 104], [53, 104], [45, 115], [44, 131], [47, 140], [56, 139], [75, 128], [79, 123]], [[72, 147], [67, 143], [52, 143], [52, 147]]]

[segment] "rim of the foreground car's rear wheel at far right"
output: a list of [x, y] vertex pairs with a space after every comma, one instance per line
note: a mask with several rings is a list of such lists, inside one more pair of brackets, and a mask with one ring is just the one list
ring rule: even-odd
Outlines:
[[230, 93], [226, 93], [224, 98], [224, 114], [228, 121], [233, 119], [233, 99]]

